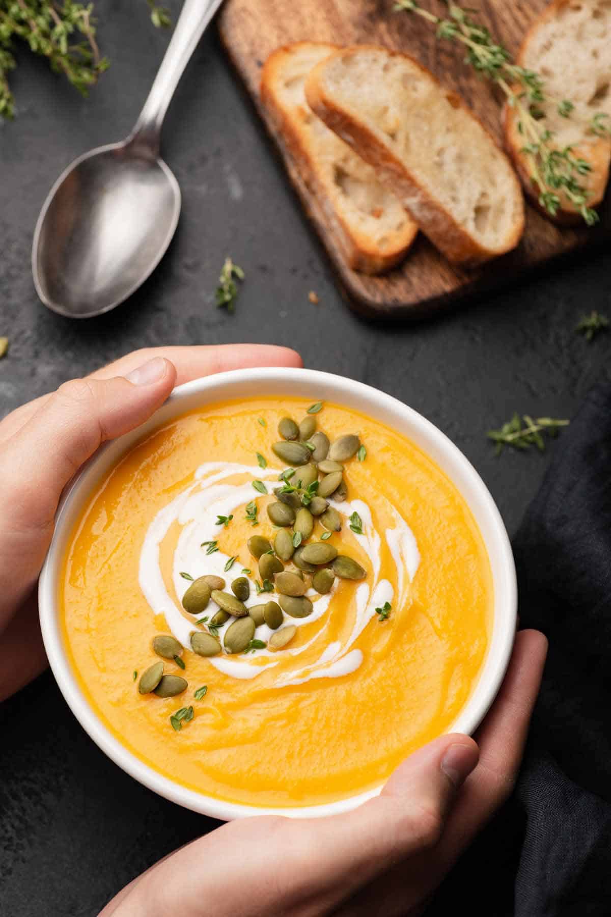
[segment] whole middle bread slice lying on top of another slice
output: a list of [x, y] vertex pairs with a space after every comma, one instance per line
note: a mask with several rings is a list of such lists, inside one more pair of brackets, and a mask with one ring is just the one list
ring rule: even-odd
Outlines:
[[449, 260], [475, 264], [518, 245], [524, 198], [507, 156], [420, 63], [372, 45], [336, 50], [312, 70], [306, 97]]

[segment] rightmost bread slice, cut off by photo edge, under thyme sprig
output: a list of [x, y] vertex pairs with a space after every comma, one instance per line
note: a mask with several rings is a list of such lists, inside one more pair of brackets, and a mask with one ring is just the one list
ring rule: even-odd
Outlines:
[[[589, 129], [595, 112], [606, 114], [611, 127], [611, 4], [609, 0], [554, 0], [526, 33], [518, 64], [540, 74], [545, 93], [554, 100], [539, 105], [545, 125], [558, 149], [573, 147], [592, 171], [578, 176], [588, 192], [587, 204], [595, 207], [605, 194], [611, 160], [611, 139]], [[558, 102], [569, 99], [575, 108], [570, 117], [558, 113]], [[505, 106], [505, 137], [527, 192], [538, 202], [539, 191], [530, 181], [532, 163], [522, 152], [525, 139], [518, 130], [519, 117]], [[580, 222], [578, 208], [560, 193], [559, 223]]]

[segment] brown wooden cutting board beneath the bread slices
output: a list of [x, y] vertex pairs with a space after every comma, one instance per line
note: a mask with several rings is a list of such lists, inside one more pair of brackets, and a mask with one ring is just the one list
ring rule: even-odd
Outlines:
[[[421, 0], [442, 15], [439, 0]], [[289, 178], [322, 238], [351, 304], [366, 315], [408, 317], [431, 314], [467, 293], [506, 285], [525, 271], [577, 249], [600, 245], [611, 238], [611, 207], [607, 195], [601, 223], [595, 228], [559, 228], [528, 207], [527, 228], [519, 248], [482, 268], [453, 267], [420, 233], [407, 259], [394, 271], [367, 277], [347, 267], [333, 245], [322, 206], [300, 176], [282, 137], [267, 117], [259, 98], [261, 68], [267, 55], [291, 41], [330, 41], [335, 44], [375, 42], [406, 51], [425, 64], [468, 105], [500, 141], [500, 95], [464, 65], [464, 50], [434, 39], [420, 17], [393, 12], [393, 0], [226, 0], [219, 18], [224, 46], [244, 80], [269, 133], [278, 144]], [[468, 3], [466, 6], [472, 6]], [[479, 17], [509, 50], [518, 50], [532, 19], [546, 0], [481, 0]]]

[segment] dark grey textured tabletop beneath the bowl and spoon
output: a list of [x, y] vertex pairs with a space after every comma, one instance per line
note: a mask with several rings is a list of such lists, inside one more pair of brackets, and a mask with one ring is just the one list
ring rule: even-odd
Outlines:
[[[171, 4], [173, 8], [177, 4]], [[23, 50], [12, 77], [18, 117], [0, 125], [0, 414], [130, 349], [260, 341], [298, 348], [307, 366], [397, 395], [475, 464], [513, 533], [548, 457], [494, 458], [486, 429], [514, 410], [570, 417], [611, 377], [611, 337], [574, 333], [609, 308], [605, 257], [471, 304], [434, 323], [366, 324], [337, 292], [274, 150], [214, 37], [170, 108], [163, 149], [183, 192], [180, 227], [145, 287], [114, 313], [74, 323], [34, 293], [29, 250], [51, 182], [78, 153], [125, 135], [168, 37], [144, 0], [98, 0], [111, 70], [88, 101]], [[213, 304], [231, 254], [247, 279], [235, 315]], [[319, 305], [308, 301], [315, 290]], [[562, 439], [552, 448], [562, 448]], [[0, 911], [89, 917], [159, 856], [209, 823], [162, 801], [97, 750], [49, 675], [0, 708]]]

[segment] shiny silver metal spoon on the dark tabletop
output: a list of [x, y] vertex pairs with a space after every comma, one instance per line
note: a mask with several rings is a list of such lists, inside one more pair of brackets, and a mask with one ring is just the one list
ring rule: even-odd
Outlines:
[[185, 0], [136, 127], [84, 153], [43, 204], [32, 244], [36, 292], [60, 315], [114, 309], [163, 257], [180, 215], [180, 187], [159, 156], [163, 118], [202, 32], [222, 0]]

